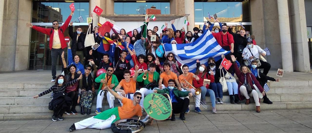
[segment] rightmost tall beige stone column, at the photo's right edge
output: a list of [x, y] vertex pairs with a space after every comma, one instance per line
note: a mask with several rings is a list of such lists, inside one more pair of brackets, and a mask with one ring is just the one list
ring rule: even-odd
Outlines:
[[289, 15], [292, 27], [293, 53], [295, 71], [310, 72], [307, 25], [305, 19], [305, 1], [290, 0]]

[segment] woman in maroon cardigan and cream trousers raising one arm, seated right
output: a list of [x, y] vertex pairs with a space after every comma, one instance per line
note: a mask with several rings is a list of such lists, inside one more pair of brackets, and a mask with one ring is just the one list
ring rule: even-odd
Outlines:
[[[256, 91], [256, 89], [253, 86], [252, 81], [254, 82], [254, 84], [257, 86], [257, 88], [260, 90], [260, 92], [262, 93], [262, 95], [265, 95], [264, 90], [262, 88], [262, 86], [259, 84], [258, 80], [256, 79], [256, 77], [251, 73], [251, 71], [249, 70], [249, 68], [245, 65], [242, 65], [240, 67], [240, 69], [238, 68], [237, 64], [235, 63], [236, 58], [234, 55], [231, 55], [232, 58], [232, 62], [233, 62], [233, 67], [235, 70], [235, 74], [238, 77], [239, 80], [239, 84], [238, 84], [238, 88], [239, 88], [239, 98], [241, 100], [246, 98], [246, 103], [245, 104], [249, 104], [250, 103], [250, 97], [253, 97], [256, 103], [256, 112], [260, 112], [260, 101], [259, 101], [259, 95]], [[251, 88], [251, 92], [248, 92], [246, 88]]]

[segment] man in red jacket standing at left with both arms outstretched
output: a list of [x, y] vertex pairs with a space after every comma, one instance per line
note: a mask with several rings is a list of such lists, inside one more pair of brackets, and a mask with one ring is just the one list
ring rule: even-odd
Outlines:
[[55, 82], [56, 78], [56, 62], [57, 58], [62, 55], [63, 49], [66, 48], [66, 42], [64, 38], [64, 32], [66, 28], [69, 25], [69, 22], [71, 21], [71, 16], [73, 16], [74, 11], [71, 12], [71, 14], [68, 16], [66, 19], [65, 23], [59, 27], [59, 22], [58, 21], [53, 21], [53, 28], [42, 28], [38, 26], [33, 26], [31, 23], [26, 23], [27, 27], [30, 27], [38, 32], [41, 32], [43, 34], [47, 34], [50, 36], [50, 41], [49, 41], [49, 47], [51, 50], [51, 59], [52, 59], [52, 66], [51, 66], [51, 71], [52, 71], [52, 80], [51, 82]]

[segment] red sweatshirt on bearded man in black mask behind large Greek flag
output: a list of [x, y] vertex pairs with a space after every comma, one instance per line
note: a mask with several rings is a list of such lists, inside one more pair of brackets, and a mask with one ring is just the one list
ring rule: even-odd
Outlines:
[[[231, 50], [231, 44], [234, 44], [234, 39], [233, 35], [227, 32], [226, 34], [223, 34], [222, 31], [219, 33], [212, 33], [213, 37], [216, 38], [218, 44], [223, 47], [223, 46], [229, 46]], [[229, 40], [227, 40], [227, 37]], [[223, 38], [223, 45], [222, 45], [222, 38]]]

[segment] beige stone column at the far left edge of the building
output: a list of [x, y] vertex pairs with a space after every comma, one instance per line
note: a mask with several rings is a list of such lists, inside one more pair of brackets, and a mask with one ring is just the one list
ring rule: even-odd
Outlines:
[[[4, 26], [1, 32], [4, 34], [2, 34], [1, 39], [0, 71], [14, 71], [18, 7], [18, 0], [5, 0], [4, 8], [1, 9], [4, 14], [2, 22]], [[26, 51], [28, 51], [28, 49], [26, 49]]]

